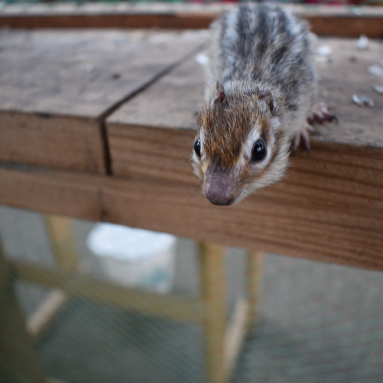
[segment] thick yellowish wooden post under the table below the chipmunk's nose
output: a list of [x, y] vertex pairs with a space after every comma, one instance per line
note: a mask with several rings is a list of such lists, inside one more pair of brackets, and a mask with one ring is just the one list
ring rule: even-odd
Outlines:
[[202, 299], [205, 302], [205, 352], [208, 383], [226, 381], [225, 368], [225, 268], [223, 248], [201, 243], [199, 246]]

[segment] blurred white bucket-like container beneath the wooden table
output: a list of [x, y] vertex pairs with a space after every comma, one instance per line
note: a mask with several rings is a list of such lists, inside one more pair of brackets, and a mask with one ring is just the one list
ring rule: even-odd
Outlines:
[[173, 285], [176, 237], [100, 223], [87, 238], [103, 273], [113, 282], [167, 293]]

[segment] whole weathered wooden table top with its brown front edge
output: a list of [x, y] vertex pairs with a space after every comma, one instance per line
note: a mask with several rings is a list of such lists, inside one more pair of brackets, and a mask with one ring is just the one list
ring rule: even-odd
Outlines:
[[[210, 205], [188, 164], [206, 30], [0, 32], [0, 203], [383, 269], [383, 47], [321, 38], [318, 128], [288, 175]], [[360, 107], [352, 95], [373, 98]]]

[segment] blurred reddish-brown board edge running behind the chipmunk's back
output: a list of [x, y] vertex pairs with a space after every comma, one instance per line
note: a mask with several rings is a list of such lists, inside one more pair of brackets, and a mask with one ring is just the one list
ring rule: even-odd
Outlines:
[[[378, 7], [358, 8], [358, 13], [346, 7], [286, 7], [305, 18], [312, 31], [320, 36], [370, 38], [383, 36], [383, 12]], [[178, 7], [169, 11], [115, 10], [106, 8], [99, 11], [86, 11], [78, 8], [55, 12], [52, 7], [40, 8], [39, 12], [23, 11], [0, 13], [0, 27], [9, 28], [166, 28], [201, 29], [208, 28], [223, 9]], [[345, 25], [347, 27], [345, 27]]]

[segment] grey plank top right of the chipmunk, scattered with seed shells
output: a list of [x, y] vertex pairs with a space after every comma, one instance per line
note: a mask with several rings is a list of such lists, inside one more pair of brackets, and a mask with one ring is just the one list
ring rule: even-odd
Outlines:
[[[383, 97], [372, 88], [382, 81], [367, 70], [370, 65], [379, 64], [381, 42], [370, 40], [365, 51], [358, 50], [350, 39], [321, 38], [318, 45], [327, 45], [332, 51], [329, 62], [318, 63], [319, 99], [333, 107], [339, 125], [318, 128], [320, 135], [315, 139], [382, 148]], [[375, 106], [357, 106], [352, 101], [355, 93], [367, 95]]]

